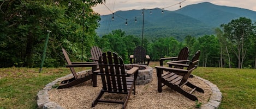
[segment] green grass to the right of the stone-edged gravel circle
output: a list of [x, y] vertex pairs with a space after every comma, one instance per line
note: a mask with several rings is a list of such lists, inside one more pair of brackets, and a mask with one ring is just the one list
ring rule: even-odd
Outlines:
[[256, 108], [256, 69], [199, 67], [193, 74], [218, 86], [223, 96], [219, 108]]

